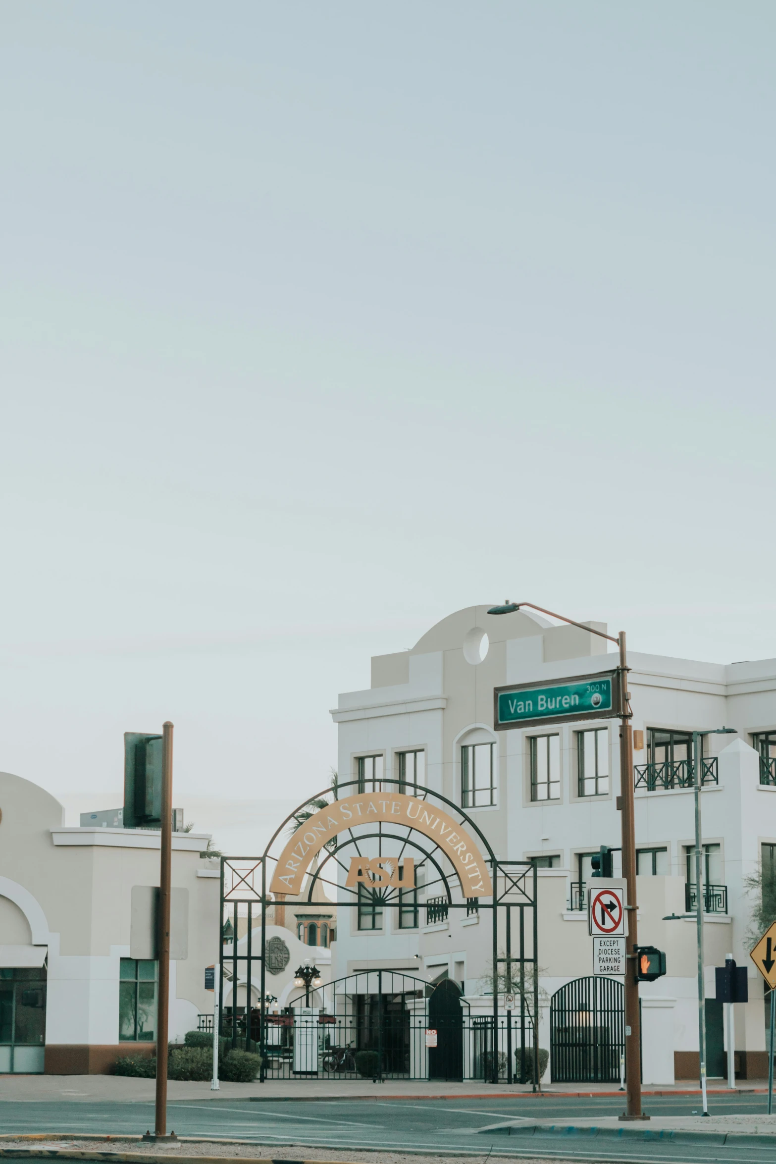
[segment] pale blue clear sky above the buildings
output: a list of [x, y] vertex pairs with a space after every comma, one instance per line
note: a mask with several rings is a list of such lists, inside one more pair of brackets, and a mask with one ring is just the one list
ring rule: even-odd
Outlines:
[[769, 0], [0, 17], [0, 768], [279, 814], [507, 596], [776, 656]]

